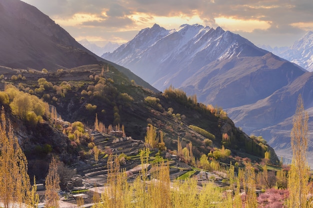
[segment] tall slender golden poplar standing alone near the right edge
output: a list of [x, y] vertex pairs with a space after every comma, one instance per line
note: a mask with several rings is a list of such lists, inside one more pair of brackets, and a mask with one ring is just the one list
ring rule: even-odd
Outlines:
[[287, 200], [290, 208], [306, 208], [308, 165], [306, 151], [308, 142], [308, 113], [304, 111], [301, 95], [298, 96], [296, 111], [293, 116], [291, 130], [292, 161], [288, 173], [289, 198]]

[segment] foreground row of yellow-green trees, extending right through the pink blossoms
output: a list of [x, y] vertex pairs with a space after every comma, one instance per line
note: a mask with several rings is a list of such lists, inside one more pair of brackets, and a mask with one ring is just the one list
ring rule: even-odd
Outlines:
[[[207, 157], [205, 157], [205, 155], [201, 157], [200, 163], [202, 168], [207, 170], [209, 165], [206, 166]], [[109, 156], [107, 186], [101, 193], [101, 197], [93, 198], [95, 204], [92, 207], [258, 208], [261, 206], [270, 208], [275, 206], [282, 208], [289, 196], [286, 190], [268, 189], [257, 197], [255, 190], [259, 188], [259, 180], [256, 180], [255, 170], [250, 163], [246, 163], [244, 169], [238, 169], [237, 176], [234, 166], [230, 164], [227, 170], [229, 179], [229, 191], [227, 191], [210, 181], [199, 190], [198, 182], [193, 177], [170, 182], [169, 164], [164, 161], [149, 162], [149, 149], [140, 152], [140, 160], [141, 171], [133, 182], [129, 183], [127, 173], [119, 167], [118, 157]], [[267, 175], [267, 172], [260, 176], [267, 180], [265, 183], [270, 183], [270, 175]]]

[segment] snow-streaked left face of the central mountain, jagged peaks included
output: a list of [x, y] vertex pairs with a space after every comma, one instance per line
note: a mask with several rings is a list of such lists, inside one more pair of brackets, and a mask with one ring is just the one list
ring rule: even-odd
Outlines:
[[[239, 35], [199, 24], [167, 30], [157, 24], [144, 28], [129, 42], [103, 58], [123, 65], [159, 90], [181, 82], [214, 60], [265, 54]], [[243, 51], [243, 52], [242, 52]], [[175, 72], [174, 72], [175, 71]], [[169, 74], [176, 74], [175, 76]], [[177, 76], [179, 78], [177, 78]], [[165, 84], [164, 84], [165, 83]], [[175, 85], [177, 86], [177, 84]]]

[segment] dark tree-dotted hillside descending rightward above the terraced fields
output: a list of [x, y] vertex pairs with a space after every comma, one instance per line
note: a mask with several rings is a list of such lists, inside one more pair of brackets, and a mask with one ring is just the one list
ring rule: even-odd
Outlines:
[[[277, 164], [278, 158], [270, 146], [258, 138], [248, 137], [220, 109], [208, 109], [205, 105], [194, 103], [180, 90], [154, 93], [130, 82], [111, 65], [108, 65], [109, 70], [102, 69], [103, 66], [98, 64], [75, 67], [61, 73], [1, 69], [4, 77], [22, 73], [25, 79], [4, 79], [0, 83], [0, 91], [5, 85], [12, 84], [27, 96], [31, 93], [54, 106], [61, 117], [53, 120], [52, 116], [42, 116], [41, 121], [32, 125], [28, 120], [18, 119], [10, 111], [12, 105], [0, 100], [11, 115], [15, 133], [29, 163], [33, 165], [31, 173], [38, 175], [38, 167], [46, 167], [45, 161], [51, 154], [59, 154], [59, 158], [67, 164], [77, 162], [78, 155], [80, 158], [91, 157], [89, 143], [93, 140], [90, 133], [96, 128], [95, 118], [105, 126], [105, 131], [109, 128], [119, 131], [115, 128], [123, 126], [121, 129], [126, 136], [141, 141], [144, 141], [147, 124], [151, 124], [158, 136], [162, 132], [164, 145], [170, 153], [177, 151], [179, 138], [182, 148], [191, 149], [196, 159], [221, 149], [223, 145], [231, 151], [231, 157], [219, 158], [224, 163], [241, 163], [242, 158], [260, 163], [264, 153], [269, 151], [272, 163]], [[44, 84], [40, 84], [40, 80]], [[84, 124], [80, 136], [77, 132], [68, 133], [71, 130], [74, 132], [76, 121]], [[202, 129], [202, 133], [194, 128]], [[86, 136], [88, 132], [89, 137]], [[46, 147], [50, 149], [46, 150]], [[123, 149], [118, 151], [119, 154], [123, 151], [128, 153]], [[113, 150], [114, 153], [118, 151]], [[163, 151], [163, 155], [165, 153]]]

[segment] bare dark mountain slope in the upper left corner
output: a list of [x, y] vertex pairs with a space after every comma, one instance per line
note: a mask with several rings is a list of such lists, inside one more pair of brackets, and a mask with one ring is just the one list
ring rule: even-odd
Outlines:
[[96, 56], [36, 7], [0, 0], [0, 66], [48, 71], [106, 62], [138, 85], [157, 91], [128, 69]]

